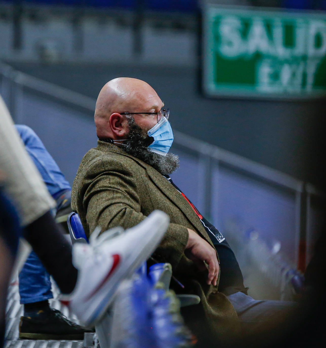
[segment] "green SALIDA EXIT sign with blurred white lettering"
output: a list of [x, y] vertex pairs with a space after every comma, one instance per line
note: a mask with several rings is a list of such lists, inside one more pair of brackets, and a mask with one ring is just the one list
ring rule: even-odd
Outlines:
[[203, 11], [207, 95], [326, 95], [326, 14], [213, 5]]

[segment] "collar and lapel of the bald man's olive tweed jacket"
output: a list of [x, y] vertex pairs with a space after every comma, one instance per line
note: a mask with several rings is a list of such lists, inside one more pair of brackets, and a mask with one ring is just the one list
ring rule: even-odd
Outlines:
[[204, 238], [210, 245], [213, 246], [213, 243], [210, 240], [205, 228], [202, 226], [198, 216], [193, 211], [190, 204], [183, 198], [181, 193], [171, 183], [168, 182], [168, 180], [161, 173], [159, 173], [156, 169], [146, 164], [142, 160], [132, 155], [129, 155], [126, 151], [124, 151], [123, 149], [121, 149], [120, 147], [114, 144], [110, 144], [110, 143], [99, 140], [97, 148], [102, 151], [104, 150], [104, 151], [116, 152], [116, 153], [119, 153], [120, 155], [130, 157], [134, 161], [136, 161], [140, 166], [142, 166], [148, 173], [154, 185], [156, 185], [157, 188], [162, 193], [164, 193], [164, 195], [168, 197], [169, 200], [172, 201], [183, 212], [183, 214], [186, 216], [189, 222], [193, 225], [194, 229], [196, 229], [197, 232], [201, 235], [201, 237]]

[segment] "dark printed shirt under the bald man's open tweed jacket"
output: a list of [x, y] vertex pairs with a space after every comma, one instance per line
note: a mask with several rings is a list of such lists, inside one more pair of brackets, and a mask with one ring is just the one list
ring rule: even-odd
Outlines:
[[245, 288], [243, 284], [243, 276], [239, 267], [239, 263], [228, 242], [226, 242], [224, 236], [221, 234], [220, 231], [217, 230], [215, 226], [213, 226], [210, 222], [208, 222], [205, 219], [204, 216], [200, 214], [197, 208], [191, 203], [189, 198], [186, 197], [184, 193], [173, 183], [172, 179], [168, 175], [164, 176], [191, 205], [215, 246], [218, 257], [220, 259], [221, 272], [218, 290], [224, 293], [225, 295], [231, 295], [238, 291], [241, 291], [247, 295], [248, 289]]

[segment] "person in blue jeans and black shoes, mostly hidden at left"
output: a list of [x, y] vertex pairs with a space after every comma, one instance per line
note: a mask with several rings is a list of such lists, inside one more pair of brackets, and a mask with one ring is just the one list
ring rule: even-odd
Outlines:
[[[30, 127], [15, 127], [50, 195], [56, 200], [53, 215], [62, 215], [67, 209], [71, 211], [71, 188], [55, 160]], [[50, 275], [34, 251], [30, 253], [19, 273], [19, 295], [21, 304], [24, 304], [19, 338], [42, 340], [51, 336], [58, 340], [82, 340], [84, 332], [90, 332], [69, 321], [60, 311], [49, 307], [48, 300], [53, 298]]]

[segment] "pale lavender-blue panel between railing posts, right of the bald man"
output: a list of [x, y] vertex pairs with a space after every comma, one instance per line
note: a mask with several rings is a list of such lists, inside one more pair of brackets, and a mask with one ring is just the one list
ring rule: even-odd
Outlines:
[[281, 251], [295, 262], [294, 193], [220, 166], [213, 174], [212, 216], [222, 233], [232, 219], [255, 229], [267, 243], [280, 242]]

